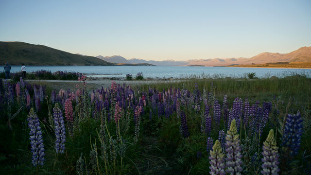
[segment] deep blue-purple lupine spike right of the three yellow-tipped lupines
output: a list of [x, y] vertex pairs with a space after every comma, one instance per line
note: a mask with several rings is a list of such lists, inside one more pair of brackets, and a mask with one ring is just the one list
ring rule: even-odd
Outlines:
[[300, 112], [297, 114], [287, 115], [284, 133], [283, 133], [283, 142], [282, 146], [286, 151], [289, 151], [291, 156], [298, 154], [301, 142], [301, 135], [303, 131], [303, 119], [301, 118]]

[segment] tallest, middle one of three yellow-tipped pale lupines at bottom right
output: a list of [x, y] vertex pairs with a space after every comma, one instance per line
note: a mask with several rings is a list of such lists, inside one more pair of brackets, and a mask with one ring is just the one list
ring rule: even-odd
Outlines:
[[226, 167], [227, 173], [230, 175], [241, 175], [242, 172], [242, 154], [241, 154], [241, 141], [239, 138], [239, 134], [236, 120], [233, 119], [230, 125], [230, 129], [227, 131], [227, 135], [225, 136], [225, 147], [226, 147]]

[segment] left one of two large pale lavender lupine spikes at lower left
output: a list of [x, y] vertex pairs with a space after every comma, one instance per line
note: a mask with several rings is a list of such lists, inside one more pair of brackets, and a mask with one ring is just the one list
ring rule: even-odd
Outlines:
[[27, 117], [28, 127], [30, 128], [29, 140], [31, 144], [31, 152], [33, 154], [32, 164], [34, 166], [43, 165], [45, 161], [44, 144], [42, 139], [42, 132], [38, 116], [35, 114], [33, 108], [30, 109]]

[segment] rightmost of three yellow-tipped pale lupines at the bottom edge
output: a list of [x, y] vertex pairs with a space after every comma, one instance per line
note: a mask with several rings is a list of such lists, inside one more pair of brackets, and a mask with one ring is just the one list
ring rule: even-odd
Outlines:
[[[268, 109], [266, 109], [268, 110]], [[263, 175], [278, 175], [280, 169], [278, 168], [278, 151], [276, 146], [276, 139], [274, 138], [273, 129], [270, 130], [267, 140], [262, 145], [262, 171]]]

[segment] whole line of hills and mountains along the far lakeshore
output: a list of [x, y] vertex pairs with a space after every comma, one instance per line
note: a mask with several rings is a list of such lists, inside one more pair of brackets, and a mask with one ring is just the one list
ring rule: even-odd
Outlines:
[[311, 63], [311, 47], [301, 47], [291, 53], [259, 53], [251, 58], [214, 58], [175, 60], [125, 59], [120, 55], [87, 56], [80, 53], [68, 53], [43, 45], [24, 42], [1, 42], [0, 62], [11, 65], [57, 65], [57, 66], [231, 66], [254, 65], [276, 62]]

